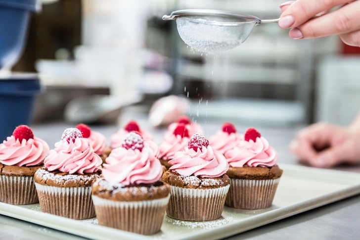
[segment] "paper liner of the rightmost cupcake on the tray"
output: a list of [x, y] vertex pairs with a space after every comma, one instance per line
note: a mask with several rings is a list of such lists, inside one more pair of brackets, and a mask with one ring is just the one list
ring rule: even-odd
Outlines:
[[268, 208], [274, 199], [278, 179], [244, 180], [230, 178], [230, 190], [226, 197], [226, 206], [240, 209]]

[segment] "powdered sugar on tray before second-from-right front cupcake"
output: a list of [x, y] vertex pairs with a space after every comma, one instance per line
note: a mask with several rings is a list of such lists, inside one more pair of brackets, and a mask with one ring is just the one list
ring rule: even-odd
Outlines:
[[190, 221], [176, 220], [176, 219], [172, 219], [169, 217], [166, 218], [166, 222], [169, 222], [169, 223], [171, 223], [173, 225], [177, 225], [177, 226], [187, 227], [190, 229], [195, 229], [195, 228], [213, 229], [213, 228], [217, 228], [217, 227], [223, 226], [225, 224], [231, 223], [233, 221], [234, 221], [234, 219], [232, 217], [218, 219], [218, 220], [214, 220], [214, 221], [206, 221], [206, 222], [190, 222]]

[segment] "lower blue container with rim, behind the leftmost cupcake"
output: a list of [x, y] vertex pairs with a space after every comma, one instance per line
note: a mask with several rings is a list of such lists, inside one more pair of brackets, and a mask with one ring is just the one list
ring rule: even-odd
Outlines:
[[36, 74], [19, 74], [0, 79], [0, 143], [15, 127], [29, 125], [35, 95], [42, 90]]

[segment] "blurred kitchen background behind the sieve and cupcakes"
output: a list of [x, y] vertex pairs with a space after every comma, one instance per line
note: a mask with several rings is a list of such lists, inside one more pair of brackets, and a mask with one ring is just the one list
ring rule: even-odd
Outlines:
[[0, 74], [39, 73], [35, 124], [121, 123], [168, 95], [189, 100], [186, 113], [201, 123], [349, 124], [360, 109], [360, 48], [339, 37], [295, 41], [264, 24], [238, 48], [205, 54], [161, 19], [186, 8], [278, 18], [284, 1], [43, 0], [21, 59]]

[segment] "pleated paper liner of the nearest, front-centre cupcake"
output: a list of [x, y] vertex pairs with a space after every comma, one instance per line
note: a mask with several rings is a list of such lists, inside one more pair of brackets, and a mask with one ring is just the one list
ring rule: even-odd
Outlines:
[[100, 225], [151, 235], [160, 231], [169, 197], [145, 201], [113, 201], [92, 196]]

